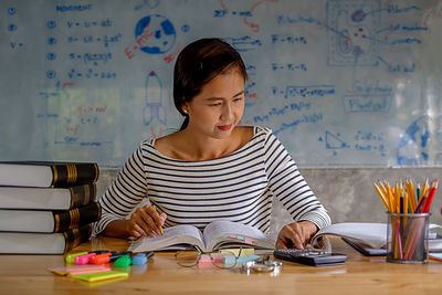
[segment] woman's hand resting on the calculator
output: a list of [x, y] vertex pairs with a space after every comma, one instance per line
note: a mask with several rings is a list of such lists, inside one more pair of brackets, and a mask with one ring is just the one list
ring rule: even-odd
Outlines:
[[276, 241], [276, 249], [304, 249], [318, 228], [311, 221], [293, 222], [284, 225]]

